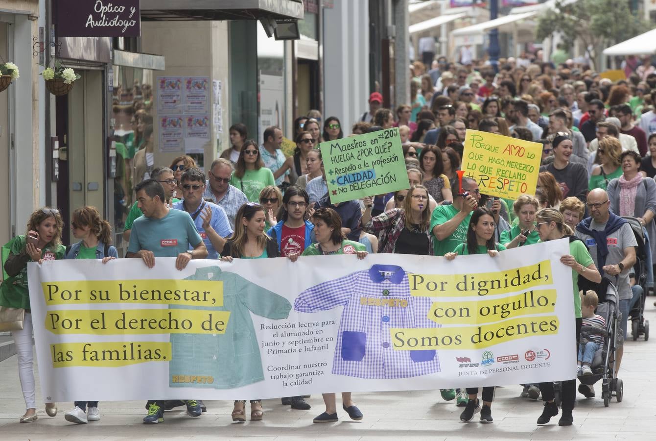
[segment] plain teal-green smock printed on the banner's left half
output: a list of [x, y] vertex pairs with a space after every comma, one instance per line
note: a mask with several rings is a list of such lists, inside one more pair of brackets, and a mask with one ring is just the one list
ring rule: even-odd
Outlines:
[[[230, 318], [223, 334], [171, 334], [169, 385], [230, 389], [264, 380], [251, 312], [279, 320], [289, 316], [291, 303], [237, 274], [221, 271], [218, 266], [199, 268], [186, 280], [223, 282], [223, 306], [170, 308], [230, 311]], [[202, 379], [198, 380], [199, 377]]]

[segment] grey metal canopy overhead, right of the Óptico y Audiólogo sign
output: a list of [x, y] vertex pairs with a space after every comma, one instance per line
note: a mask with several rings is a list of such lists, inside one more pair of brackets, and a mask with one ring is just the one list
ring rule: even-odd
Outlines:
[[141, 0], [141, 20], [274, 20], [304, 18], [302, 0]]

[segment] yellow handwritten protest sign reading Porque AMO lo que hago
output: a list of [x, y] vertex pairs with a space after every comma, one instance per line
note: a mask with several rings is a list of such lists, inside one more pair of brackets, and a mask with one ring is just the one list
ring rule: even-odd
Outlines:
[[468, 129], [461, 170], [478, 182], [482, 194], [516, 199], [535, 194], [541, 158], [537, 142]]

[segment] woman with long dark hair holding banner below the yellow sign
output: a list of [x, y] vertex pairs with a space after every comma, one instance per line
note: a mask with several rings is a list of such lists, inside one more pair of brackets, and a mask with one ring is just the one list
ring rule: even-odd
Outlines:
[[[474, 210], [472, 218], [469, 221], [469, 228], [467, 230], [467, 242], [461, 243], [453, 251], [453, 253], [446, 253], [444, 257], [447, 261], [453, 261], [457, 255], [470, 255], [470, 254], [485, 254], [490, 257], [495, 257], [499, 251], [506, 249], [501, 243], [495, 243], [496, 226], [494, 222], [494, 214], [490, 209], [485, 207], [478, 207]], [[491, 423], [492, 419], [492, 401], [494, 400], [494, 386], [483, 387], [483, 408], [481, 408], [480, 400], [478, 400], [478, 387], [468, 387], [468, 402], [464, 411], [460, 415], [461, 421], [472, 421], [474, 413], [480, 411], [481, 423]]]

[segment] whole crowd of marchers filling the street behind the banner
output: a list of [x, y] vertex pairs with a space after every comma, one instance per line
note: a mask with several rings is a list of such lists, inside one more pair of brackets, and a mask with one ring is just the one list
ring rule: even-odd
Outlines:
[[[296, 147], [289, 156], [281, 150], [281, 128], [268, 127], [260, 145], [249, 138], [248, 127], [236, 123], [230, 127], [230, 148], [207, 167], [207, 175], [189, 156], [180, 156], [170, 165], [155, 164], [152, 117], [137, 112], [138, 139], [125, 140], [136, 151], [131, 156], [136, 201], [125, 219], [123, 237], [129, 241], [125, 257], [142, 259], [148, 268], [160, 257], [175, 257], [178, 270], [191, 259], [296, 261], [308, 255], [356, 254], [367, 259], [369, 253], [401, 253], [451, 260], [487, 254], [502, 259], [509, 248], [569, 237], [569, 253], [560, 261], [572, 274], [577, 369], [588, 375], [593, 346], [583, 342], [579, 347], [579, 331], [584, 320], [598, 322], [597, 300], [594, 291], [579, 293], [580, 281], [600, 284], [604, 274], [617, 279], [621, 339], [626, 338], [632, 309], [645, 294], [631, 276], [637, 243], [623, 217], [637, 218], [644, 227], [649, 239], [647, 286], [653, 285], [653, 70], [643, 75], [632, 72], [626, 80], [613, 82], [569, 60], [554, 66], [509, 59], [494, 72], [472, 61], [459, 65], [440, 58], [430, 66], [413, 64], [409, 103], [390, 110], [382, 102], [379, 92], [371, 93], [369, 110], [352, 121], [350, 130], [335, 116], [322, 123], [318, 111], [297, 117], [289, 134]], [[332, 203], [319, 143], [390, 127], [400, 129], [409, 188]], [[456, 172], [466, 129], [541, 144], [535, 194], [516, 200], [493, 198], [480, 192], [476, 180], [459, 180]], [[79, 242], [64, 247], [63, 228], [58, 210], [43, 207], [31, 215], [26, 234], [8, 244], [4, 263], [8, 278], [0, 286], [0, 305], [26, 309], [24, 329], [13, 333], [27, 408], [22, 422], [37, 419], [27, 264], [54, 259], [109, 263], [118, 257], [111, 245], [111, 226], [93, 207], [73, 213], [70, 228]], [[175, 245], [163, 246], [163, 242]], [[615, 371], [621, 359], [619, 347]], [[576, 380], [562, 383], [560, 425], [573, 423], [575, 386]], [[472, 420], [480, 411], [480, 421], [491, 423], [494, 390], [483, 387], [480, 399], [477, 388], [444, 389], [441, 396], [464, 407], [462, 421]], [[594, 388], [583, 384], [579, 392], [587, 398], [595, 394]], [[523, 396], [537, 399], [540, 394], [544, 410], [537, 423], [544, 424], [559, 413], [553, 383], [523, 385]], [[309, 409], [304, 398], [285, 397], [282, 403]], [[323, 394], [323, 400], [325, 411], [314, 422], [338, 421], [335, 394]], [[192, 417], [199, 417], [205, 407], [200, 400], [149, 400], [144, 423], [161, 423], [164, 411], [178, 405], [186, 405]], [[68, 421], [100, 419], [98, 402], [80, 401], [74, 406], [65, 415]], [[243, 400], [234, 402], [233, 421], [245, 421], [245, 406]], [[350, 392], [342, 392], [342, 408], [351, 419], [363, 417]], [[56, 415], [54, 404], [47, 404], [46, 410]], [[251, 420], [263, 416], [261, 401], [251, 400]]]

